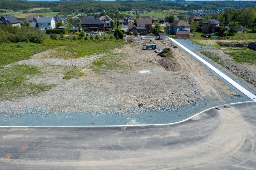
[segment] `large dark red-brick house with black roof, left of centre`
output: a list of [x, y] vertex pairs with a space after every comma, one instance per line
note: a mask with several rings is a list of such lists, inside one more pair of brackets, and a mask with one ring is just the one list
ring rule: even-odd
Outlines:
[[105, 32], [105, 23], [93, 16], [88, 16], [81, 25], [85, 32]]

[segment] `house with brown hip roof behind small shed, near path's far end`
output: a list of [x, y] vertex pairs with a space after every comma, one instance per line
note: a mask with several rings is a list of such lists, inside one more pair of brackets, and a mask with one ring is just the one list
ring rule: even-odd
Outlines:
[[190, 32], [191, 25], [184, 20], [175, 21], [166, 28], [166, 33], [170, 35], [176, 35], [177, 31], [188, 31]]

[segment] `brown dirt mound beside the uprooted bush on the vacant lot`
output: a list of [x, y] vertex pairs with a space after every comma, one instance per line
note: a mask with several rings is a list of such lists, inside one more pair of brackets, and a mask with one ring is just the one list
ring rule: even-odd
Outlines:
[[181, 71], [181, 65], [175, 58], [167, 57], [159, 61], [159, 64], [167, 71], [178, 72]]

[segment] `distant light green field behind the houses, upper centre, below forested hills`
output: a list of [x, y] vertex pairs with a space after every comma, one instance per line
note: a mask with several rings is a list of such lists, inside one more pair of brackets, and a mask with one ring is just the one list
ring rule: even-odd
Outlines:
[[[141, 17], [146, 17], [148, 15], [151, 15], [153, 17], [157, 18], [165, 18], [166, 14], [173, 14], [173, 15], [178, 15], [178, 14], [186, 14], [191, 11], [183, 11], [183, 10], [169, 10], [169, 11], [162, 11], [162, 12], [149, 12], [150, 14], [139, 14]], [[124, 15], [131, 15], [132, 17], [135, 18], [136, 15], [132, 13], [132, 11], [123, 11], [122, 14]]]

